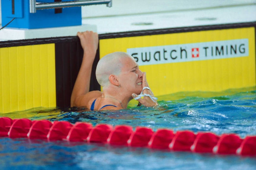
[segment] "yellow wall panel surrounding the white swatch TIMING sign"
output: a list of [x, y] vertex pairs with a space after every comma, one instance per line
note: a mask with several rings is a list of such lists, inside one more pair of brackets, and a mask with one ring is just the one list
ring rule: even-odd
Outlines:
[[[221, 44], [224, 41], [240, 42], [240, 40], [248, 42], [248, 56], [241, 54], [230, 57], [231, 54], [227, 54], [226, 58], [218, 59], [146, 64], [140, 66], [140, 69], [147, 72], [148, 83], [154, 89], [155, 95], [180, 91], [221, 91], [255, 86], [254, 27], [102, 39], [99, 42], [100, 58], [111, 52], [127, 52], [129, 49], [152, 49], [151, 47], [173, 45], [184, 45], [186, 48], [187, 44], [207, 43], [211, 45], [214, 42]], [[223, 53], [231, 53], [230, 46], [223, 45], [223, 48]], [[186, 50], [189, 49], [186, 48]], [[211, 47], [208, 48], [208, 52], [210, 50]], [[236, 50], [239, 50], [238, 46]], [[217, 51], [214, 50], [212, 56], [215, 52], [217, 56]]]

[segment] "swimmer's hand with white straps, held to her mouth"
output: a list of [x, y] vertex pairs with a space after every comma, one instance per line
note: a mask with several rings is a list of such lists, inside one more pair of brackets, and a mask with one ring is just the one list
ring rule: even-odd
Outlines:
[[132, 94], [132, 97], [137, 100], [139, 102], [139, 105], [142, 104], [146, 107], [153, 107], [153, 106], [157, 106], [157, 100], [153, 94], [153, 92], [151, 91], [151, 89], [148, 86], [148, 82], [146, 80], [146, 73], [143, 73], [142, 76], [142, 96], [144, 96], [143, 98], [140, 97], [140, 95], [137, 95], [135, 93]]

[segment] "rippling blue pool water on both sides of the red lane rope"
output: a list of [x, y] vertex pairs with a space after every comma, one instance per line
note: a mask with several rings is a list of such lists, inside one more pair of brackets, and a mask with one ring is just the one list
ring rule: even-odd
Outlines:
[[[219, 93], [181, 92], [159, 96], [161, 106], [119, 111], [84, 111], [78, 108], [34, 108], [0, 114], [12, 119], [65, 120], [71, 123], [128, 124], [154, 131], [160, 128], [236, 133], [256, 136], [256, 89]], [[256, 157], [199, 154], [148, 148], [88, 144], [85, 142], [0, 138], [0, 169], [256, 169]]]

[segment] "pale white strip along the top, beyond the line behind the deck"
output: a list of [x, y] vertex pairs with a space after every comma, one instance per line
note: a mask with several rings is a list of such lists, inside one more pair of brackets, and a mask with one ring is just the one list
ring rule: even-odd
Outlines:
[[256, 0], [112, 0], [112, 2], [113, 6], [111, 8], [108, 8], [105, 5], [82, 7], [82, 17], [90, 18], [115, 15], [175, 12], [187, 11], [191, 9], [200, 10], [207, 8], [221, 8], [227, 6], [256, 4]]

